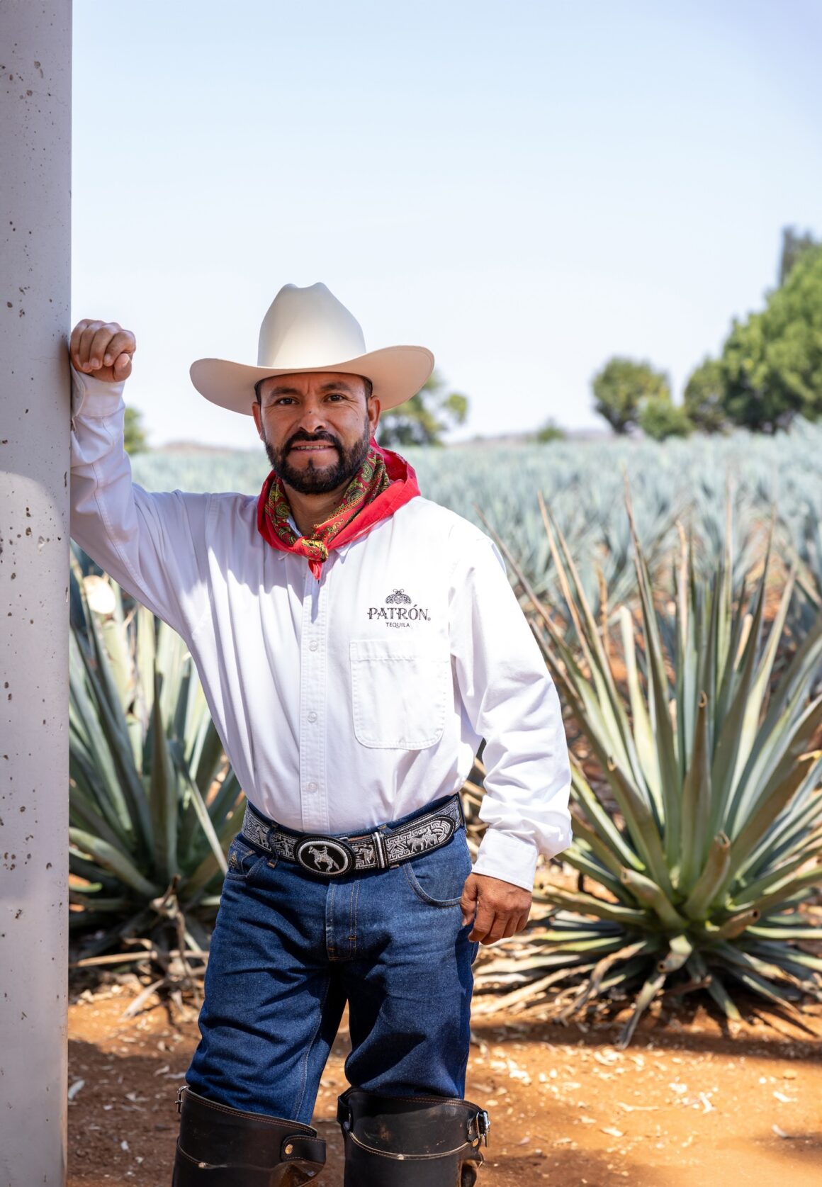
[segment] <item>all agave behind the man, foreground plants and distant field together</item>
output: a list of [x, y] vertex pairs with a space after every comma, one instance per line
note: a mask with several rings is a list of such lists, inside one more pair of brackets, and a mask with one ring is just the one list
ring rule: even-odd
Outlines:
[[[629, 1042], [661, 994], [731, 1018], [740, 992], [795, 1016], [822, 999], [822, 429], [408, 457], [497, 540], [572, 742], [572, 846], [478, 965], [477, 1009], [627, 1002]], [[267, 465], [170, 451], [133, 470], [254, 493]], [[71, 658], [72, 922], [85, 951], [202, 957], [242, 793], [191, 660], [82, 558]]]

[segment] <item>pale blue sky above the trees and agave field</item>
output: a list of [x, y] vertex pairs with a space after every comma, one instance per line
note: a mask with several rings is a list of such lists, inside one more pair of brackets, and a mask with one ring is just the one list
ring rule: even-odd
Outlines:
[[151, 444], [259, 445], [191, 362], [256, 363], [283, 284], [427, 345], [454, 439], [681, 399], [822, 236], [817, 0], [75, 0], [72, 319], [134, 330]]

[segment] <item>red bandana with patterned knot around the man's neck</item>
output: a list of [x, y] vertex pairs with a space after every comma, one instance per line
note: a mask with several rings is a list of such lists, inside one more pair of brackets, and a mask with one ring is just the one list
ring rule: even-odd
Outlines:
[[307, 557], [308, 567], [319, 580], [323, 561], [327, 560], [332, 548], [365, 535], [375, 523], [388, 519], [419, 493], [416, 475], [408, 462], [372, 440], [365, 461], [345, 488], [339, 507], [308, 537], [299, 535], [292, 527], [285, 488], [272, 470], [257, 501], [257, 529], [272, 547]]

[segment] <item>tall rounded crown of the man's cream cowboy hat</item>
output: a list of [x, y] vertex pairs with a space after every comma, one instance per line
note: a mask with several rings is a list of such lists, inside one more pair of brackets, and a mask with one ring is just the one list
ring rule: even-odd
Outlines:
[[364, 354], [359, 322], [324, 284], [283, 285], [260, 326], [257, 367], [333, 370], [333, 362]]

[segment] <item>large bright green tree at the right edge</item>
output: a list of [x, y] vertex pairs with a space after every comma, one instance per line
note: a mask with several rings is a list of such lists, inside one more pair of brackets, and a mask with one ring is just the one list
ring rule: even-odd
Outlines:
[[822, 415], [822, 246], [802, 253], [762, 312], [734, 320], [720, 364], [734, 424], [772, 433]]

